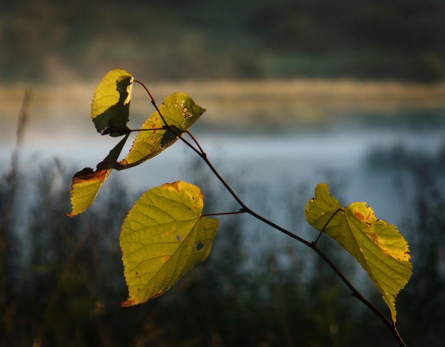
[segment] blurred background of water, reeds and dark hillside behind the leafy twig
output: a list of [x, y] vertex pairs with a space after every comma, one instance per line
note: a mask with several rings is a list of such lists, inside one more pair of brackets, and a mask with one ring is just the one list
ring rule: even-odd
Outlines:
[[[445, 339], [445, 2], [440, 0], [15, 0], [0, 9], [0, 346], [395, 346], [310, 250], [249, 216], [221, 218], [209, 259], [163, 296], [127, 298], [120, 225], [142, 192], [197, 183], [205, 212], [237, 210], [177, 143], [114, 172], [69, 219], [71, 177], [117, 143], [89, 118], [122, 68], [158, 104], [183, 91], [191, 129], [252, 209], [308, 240], [326, 181], [410, 245], [397, 297], [408, 346]], [[153, 112], [133, 88], [131, 128]], [[128, 150], [131, 143], [126, 146]], [[320, 247], [389, 315], [364, 271]]]

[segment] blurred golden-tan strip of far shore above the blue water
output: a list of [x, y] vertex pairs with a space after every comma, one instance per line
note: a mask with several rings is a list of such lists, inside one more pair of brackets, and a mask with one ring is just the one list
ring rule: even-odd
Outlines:
[[[97, 81], [98, 83], [99, 81]], [[169, 82], [144, 81], [157, 99], [183, 91], [207, 109], [210, 124], [248, 125], [258, 119], [318, 122], [328, 114], [397, 112], [404, 109], [445, 109], [445, 83], [420, 84], [355, 80], [270, 80]], [[32, 90], [31, 113], [42, 117], [89, 116], [96, 83], [61, 85], [0, 85], [0, 118], [15, 118], [26, 87]], [[145, 117], [152, 106], [145, 91], [133, 88], [130, 112]]]

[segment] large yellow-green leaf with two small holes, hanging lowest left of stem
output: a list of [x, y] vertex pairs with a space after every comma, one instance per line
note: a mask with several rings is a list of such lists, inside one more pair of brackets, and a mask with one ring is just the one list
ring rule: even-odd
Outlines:
[[207, 258], [217, 219], [201, 217], [199, 187], [177, 181], [144, 193], [125, 219], [120, 234], [128, 299], [132, 306], [153, 299]]

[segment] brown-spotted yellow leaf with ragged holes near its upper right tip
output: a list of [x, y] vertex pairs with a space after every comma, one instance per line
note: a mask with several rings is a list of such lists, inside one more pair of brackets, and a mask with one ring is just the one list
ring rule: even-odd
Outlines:
[[[159, 110], [166, 122], [179, 134], [186, 131], [205, 112], [205, 109], [198, 106], [190, 96], [180, 92], [166, 97]], [[160, 129], [164, 125], [159, 113], [155, 111], [141, 129]], [[130, 152], [116, 169], [123, 170], [137, 166], [158, 155], [177, 140], [175, 134], [164, 129], [140, 131]]]

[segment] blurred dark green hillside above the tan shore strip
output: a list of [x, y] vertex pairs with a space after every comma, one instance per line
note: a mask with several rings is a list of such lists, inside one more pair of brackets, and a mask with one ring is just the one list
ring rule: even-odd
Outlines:
[[445, 77], [440, 0], [16, 0], [2, 82]]

